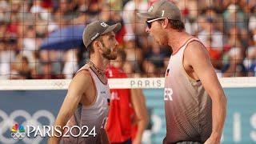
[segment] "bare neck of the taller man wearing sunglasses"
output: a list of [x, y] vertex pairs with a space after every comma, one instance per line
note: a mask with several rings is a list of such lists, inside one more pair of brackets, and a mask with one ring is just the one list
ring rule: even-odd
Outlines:
[[172, 31], [168, 35], [168, 45], [171, 46], [173, 51], [177, 51], [189, 38], [192, 38], [190, 34], [178, 31]]

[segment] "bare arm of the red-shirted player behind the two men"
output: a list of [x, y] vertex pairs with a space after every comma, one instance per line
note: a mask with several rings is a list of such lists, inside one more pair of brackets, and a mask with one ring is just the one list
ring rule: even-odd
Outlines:
[[147, 110], [146, 110], [146, 102], [144, 98], [144, 94], [140, 89], [131, 90], [131, 102], [134, 107], [134, 111], [136, 114], [136, 120], [138, 122], [138, 131], [136, 137], [134, 138], [134, 144], [142, 142], [142, 134], [146, 129], [146, 126], [149, 122]]

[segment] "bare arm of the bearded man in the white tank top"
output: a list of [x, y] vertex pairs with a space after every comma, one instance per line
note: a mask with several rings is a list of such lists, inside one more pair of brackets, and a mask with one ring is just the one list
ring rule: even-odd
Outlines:
[[[58, 112], [58, 116], [54, 122], [54, 126], [63, 126], [66, 125], [66, 122], [71, 118], [74, 114], [74, 111], [78, 107], [78, 103], [82, 98], [82, 94], [86, 92], [88, 89], [91, 78], [90, 74], [87, 71], [82, 71], [78, 73], [73, 80], [70, 82], [70, 86], [68, 88], [66, 98], [62, 103], [62, 107]], [[63, 134], [63, 130], [62, 134]], [[58, 135], [58, 134], [57, 134]], [[59, 143], [59, 137], [51, 137], [48, 140], [49, 144], [57, 144]]]

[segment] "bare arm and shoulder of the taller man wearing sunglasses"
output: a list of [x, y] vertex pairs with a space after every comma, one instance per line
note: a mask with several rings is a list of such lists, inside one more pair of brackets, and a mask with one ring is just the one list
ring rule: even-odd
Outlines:
[[191, 42], [184, 52], [184, 61], [192, 67], [212, 100], [213, 128], [211, 142], [219, 143], [226, 118], [226, 97], [218, 82], [208, 51], [199, 42]]

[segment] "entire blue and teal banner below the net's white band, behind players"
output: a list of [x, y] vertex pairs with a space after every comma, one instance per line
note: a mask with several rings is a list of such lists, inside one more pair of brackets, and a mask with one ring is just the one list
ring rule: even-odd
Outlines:
[[[166, 134], [163, 90], [147, 89], [143, 92], [150, 112], [150, 125], [144, 134], [143, 142], [162, 143]], [[222, 143], [256, 142], [255, 92], [256, 88], [225, 89], [228, 113]], [[46, 143], [47, 138], [41, 137], [15, 140], [15, 127], [18, 126], [21, 131], [24, 126], [26, 132], [26, 125], [29, 124], [52, 125], [65, 96], [66, 90], [0, 91], [0, 143]]]

